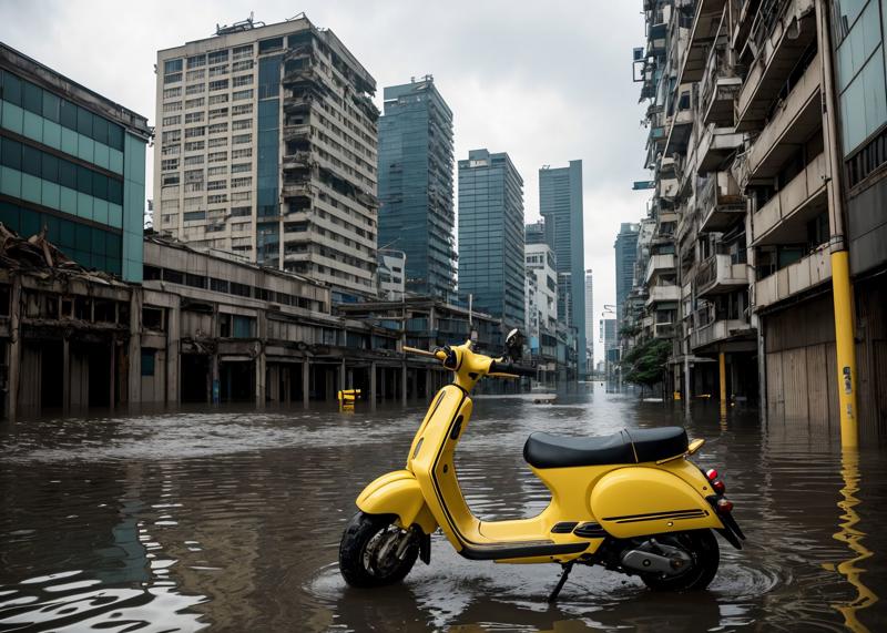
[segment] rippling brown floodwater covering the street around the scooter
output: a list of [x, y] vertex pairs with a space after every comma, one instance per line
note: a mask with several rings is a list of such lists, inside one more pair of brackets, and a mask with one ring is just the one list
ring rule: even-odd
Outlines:
[[533, 430], [685, 423], [748, 540], [704, 592], [577, 566], [498, 565], [432, 539], [402, 584], [348, 589], [337, 548], [361, 487], [402, 468], [421, 402], [355, 414], [237, 408], [0, 422], [0, 631], [884, 631], [887, 453], [842, 455], [754, 412], [585, 392], [478, 399], [457, 459], [475, 513], [536, 513]]

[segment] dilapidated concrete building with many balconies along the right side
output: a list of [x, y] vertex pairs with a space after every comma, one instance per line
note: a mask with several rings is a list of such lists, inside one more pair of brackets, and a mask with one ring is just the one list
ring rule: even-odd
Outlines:
[[[835, 430], [832, 262], [848, 248], [858, 420], [875, 438], [887, 410], [875, 396], [887, 379], [887, 254], [875, 246], [887, 232], [877, 202], [887, 159], [875, 150], [887, 91], [874, 70], [881, 38], [864, 24], [880, 22], [881, 3], [651, 0], [644, 10], [638, 79], [656, 225], [644, 285], [652, 297], [676, 257], [675, 389], [716, 394], [721, 382], [725, 399], [759, 392], [774, 421]], [[670, 233], [674, 251], [656, 251]]]

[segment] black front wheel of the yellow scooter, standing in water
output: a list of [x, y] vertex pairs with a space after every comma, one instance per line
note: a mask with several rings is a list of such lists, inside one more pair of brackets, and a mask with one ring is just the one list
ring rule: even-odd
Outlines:
[[[419, 539], [395, 524], [394, 514], [358, 512], [341, 534], [339, 571], [351, 586], [385, 586], [406, 578], [419, 555]], [[392, 543], [409, 539], [402, 559]], [[381, 558], [379, 558], [381, 557]]]

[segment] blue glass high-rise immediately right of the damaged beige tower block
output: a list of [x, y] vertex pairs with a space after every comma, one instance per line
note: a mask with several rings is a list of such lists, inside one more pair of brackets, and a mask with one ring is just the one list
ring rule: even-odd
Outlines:
[[379, 244], [407, 256], [407, 292], [455, 300], [452, 112], [426, 75], [385, 89]]

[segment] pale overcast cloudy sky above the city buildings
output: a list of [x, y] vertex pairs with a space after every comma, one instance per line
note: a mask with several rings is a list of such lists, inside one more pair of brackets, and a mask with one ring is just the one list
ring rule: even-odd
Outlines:
[[[643, 43], [641, 2], [523, 6], [514, 0], [302, 0], [261, 7], [234, 0], [6, 0], [0, 40], [153, 125], [157, 50], [212, 35], [216, 23], [243, 20], [251, 10], [268, 24], [305, 11], [376, 78], [380, 108], [383, 86], [432, 74], [453, 111], [456, 159], [477, 147], [508, 152], [523, 176], [527, 222], [539, 217], [539, 167], [582, 160], [585, 267], [594, 270], [597, 321], [604, 305], [615, 303], [619, 224], [636, 222], [649, 197], [631, 191], [632, 181], [648, 177], [639, 86], [631, 81], [631, 51]], [[149, 157], [149, 169], [152, 164]], [[597, 334], [595, 357], [602, 358]]]

